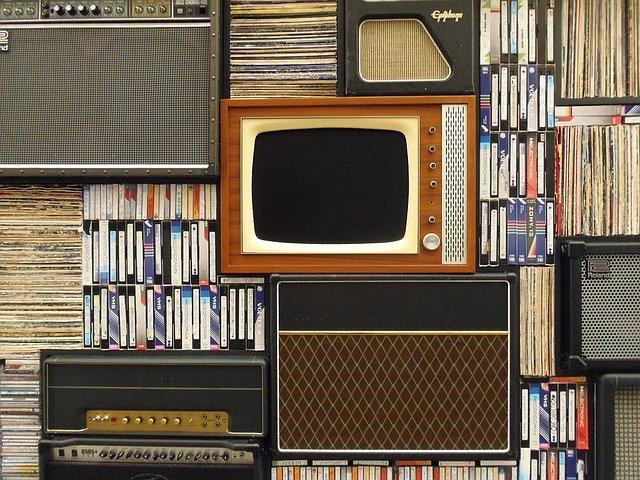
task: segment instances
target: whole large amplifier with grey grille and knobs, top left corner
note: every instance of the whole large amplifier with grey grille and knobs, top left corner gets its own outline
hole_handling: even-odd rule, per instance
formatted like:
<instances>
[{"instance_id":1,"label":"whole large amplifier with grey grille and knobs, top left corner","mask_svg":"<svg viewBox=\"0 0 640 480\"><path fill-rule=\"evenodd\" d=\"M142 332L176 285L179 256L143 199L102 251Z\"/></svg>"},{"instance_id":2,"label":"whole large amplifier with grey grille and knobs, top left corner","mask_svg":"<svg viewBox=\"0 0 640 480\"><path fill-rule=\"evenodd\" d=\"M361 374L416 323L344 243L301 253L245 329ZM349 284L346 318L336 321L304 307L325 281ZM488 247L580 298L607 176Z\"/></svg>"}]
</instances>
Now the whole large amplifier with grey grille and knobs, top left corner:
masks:
<instances>
[{"instance_id":1,"label":"whole large amplifier with grey grille and knobs, top left corner","mask_svg":"<svg viewBox=\"0 0 640 480\"><path fill-rule=\"evenodd\" d=\"M216 174L220 9L180 5L4 0L0 175Z\"/></svg>"}]
</instances>

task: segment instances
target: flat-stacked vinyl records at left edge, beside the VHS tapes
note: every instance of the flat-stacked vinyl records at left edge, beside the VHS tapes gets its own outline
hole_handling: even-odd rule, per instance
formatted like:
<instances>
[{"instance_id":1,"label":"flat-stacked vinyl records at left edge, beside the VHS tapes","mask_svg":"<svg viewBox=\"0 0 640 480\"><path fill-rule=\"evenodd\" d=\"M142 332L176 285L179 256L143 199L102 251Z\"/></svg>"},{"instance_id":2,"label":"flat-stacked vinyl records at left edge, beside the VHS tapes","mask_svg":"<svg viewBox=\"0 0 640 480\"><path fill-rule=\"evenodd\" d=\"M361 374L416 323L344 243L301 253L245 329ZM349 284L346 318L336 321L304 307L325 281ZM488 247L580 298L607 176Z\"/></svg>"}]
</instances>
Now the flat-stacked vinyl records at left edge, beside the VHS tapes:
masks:
<instances>
[{"instance_id":1,"label":"flat-stacked vinyl records at left edge, beside the VHS tapes","mask_svg":"<svg viewBox=\"0 0 640 480\"><path fill-rule=\"evenodd\" d=\"M0 351L82 347L82 189L0 186Z\"/></svg>"}]
</instances>

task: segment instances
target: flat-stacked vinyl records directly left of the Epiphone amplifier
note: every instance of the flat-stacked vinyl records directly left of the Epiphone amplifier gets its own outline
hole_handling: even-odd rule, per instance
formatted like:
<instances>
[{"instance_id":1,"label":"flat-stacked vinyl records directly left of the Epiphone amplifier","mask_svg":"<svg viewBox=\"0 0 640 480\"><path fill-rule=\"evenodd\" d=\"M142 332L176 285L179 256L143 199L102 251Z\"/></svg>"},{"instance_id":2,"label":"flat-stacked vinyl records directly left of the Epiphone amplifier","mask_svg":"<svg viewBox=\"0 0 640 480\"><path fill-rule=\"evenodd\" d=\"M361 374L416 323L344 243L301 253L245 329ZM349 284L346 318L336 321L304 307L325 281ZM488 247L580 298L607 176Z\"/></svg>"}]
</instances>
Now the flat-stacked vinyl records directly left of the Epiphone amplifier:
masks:
<instances>
[{"instance_id":1,"label":"flat-stacked vinyl records directly left of the Epiphone amplifier","mask_svg":"<svg viewBox=\"0 0 640 480\"><path fill-rule=\"evenodd\" d=\"M335 96L336 0L231 0L231 97Z\"/></svg>"}]
</instances>

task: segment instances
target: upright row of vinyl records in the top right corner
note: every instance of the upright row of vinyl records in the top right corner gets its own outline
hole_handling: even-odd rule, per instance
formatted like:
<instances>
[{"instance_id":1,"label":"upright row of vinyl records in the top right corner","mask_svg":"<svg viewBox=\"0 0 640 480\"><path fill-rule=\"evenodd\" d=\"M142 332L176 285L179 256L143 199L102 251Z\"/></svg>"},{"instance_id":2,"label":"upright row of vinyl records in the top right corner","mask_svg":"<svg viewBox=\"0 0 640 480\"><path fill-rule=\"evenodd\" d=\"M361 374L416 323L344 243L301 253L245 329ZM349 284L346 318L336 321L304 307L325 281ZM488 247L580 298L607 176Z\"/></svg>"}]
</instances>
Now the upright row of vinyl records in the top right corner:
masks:
<instances>
[{"instance_id":1,"label":"upright row of vinyl records in the top right corner","mask_svg":"<svg viewBox=\"0 0 640 480\"><path fill-rule=\"evenodd\" d=\"M638 0L562 2L562 96L640 95Z\"/></svg>"}]
</instances>

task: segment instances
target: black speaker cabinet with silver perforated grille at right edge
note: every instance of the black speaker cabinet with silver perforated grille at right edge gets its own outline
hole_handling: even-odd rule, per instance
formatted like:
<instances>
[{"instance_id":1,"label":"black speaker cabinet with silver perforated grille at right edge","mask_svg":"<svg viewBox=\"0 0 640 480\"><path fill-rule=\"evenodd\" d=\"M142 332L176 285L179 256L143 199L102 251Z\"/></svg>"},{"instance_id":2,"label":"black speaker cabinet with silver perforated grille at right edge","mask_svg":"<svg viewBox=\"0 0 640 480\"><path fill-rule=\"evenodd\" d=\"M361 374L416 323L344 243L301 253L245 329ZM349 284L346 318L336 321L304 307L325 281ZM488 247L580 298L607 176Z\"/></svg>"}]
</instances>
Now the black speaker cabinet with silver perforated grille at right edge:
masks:
<instances>
[{"instance_id":1,"label":"black speaker cabinet with silver perforated grille at right edge","mask_svg":"<svg viewBox=\"0 0 640 480\"><path fill-rule=\"evenodd\" d=\"M640 368L640 239L562 242L560 309L567 368Z\"/></svg>"}]
</instances>

